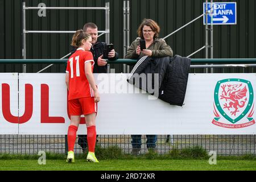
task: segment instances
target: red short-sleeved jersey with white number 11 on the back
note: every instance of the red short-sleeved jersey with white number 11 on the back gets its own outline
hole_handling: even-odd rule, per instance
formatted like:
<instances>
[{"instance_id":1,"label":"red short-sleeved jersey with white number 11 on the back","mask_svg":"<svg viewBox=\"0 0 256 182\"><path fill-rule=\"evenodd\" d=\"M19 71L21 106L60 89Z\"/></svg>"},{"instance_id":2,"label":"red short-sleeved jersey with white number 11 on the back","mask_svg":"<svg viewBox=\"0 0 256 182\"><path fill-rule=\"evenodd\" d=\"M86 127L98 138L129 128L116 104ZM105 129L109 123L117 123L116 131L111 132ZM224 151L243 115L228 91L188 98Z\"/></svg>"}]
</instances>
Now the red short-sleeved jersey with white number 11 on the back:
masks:
<instances>
[{"instance_id":1,"label":"red short-sleeved jersey with white number 11 on the back","mask_svg":"<svg viewBox=\"0 0 256 182\"><path fill-rule=\"evenodd\" d=\"M94 60L92 52L84 51L82 48L78 48L76 52L69 57L66 70L66 73L69 73L68 100L82 97L94 97L93 89L91 88L84 71L84 65L88 62L92 62L93 72Z\"/></svg>"}]
</instances>

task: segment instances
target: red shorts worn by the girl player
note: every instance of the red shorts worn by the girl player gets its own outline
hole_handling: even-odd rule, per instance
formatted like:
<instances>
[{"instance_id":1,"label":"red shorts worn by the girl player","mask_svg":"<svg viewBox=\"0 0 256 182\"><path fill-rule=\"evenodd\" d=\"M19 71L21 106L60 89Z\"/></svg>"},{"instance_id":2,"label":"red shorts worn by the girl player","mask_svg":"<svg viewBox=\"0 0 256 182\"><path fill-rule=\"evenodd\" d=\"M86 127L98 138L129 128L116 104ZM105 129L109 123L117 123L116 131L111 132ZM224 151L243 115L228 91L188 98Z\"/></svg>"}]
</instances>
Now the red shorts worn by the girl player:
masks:
<instances>
[{"instance_id":1,"label":"red shorts worn by the girl player","mask_svg":"<svg viewBox=\"0 0 256 182\"><path fill-rule=\"evenodd\" d=\"M70 115L88 115L97 113L97 103L94 102L94 97L82 97L68 101Z\"/></svg>"}]
</instances>

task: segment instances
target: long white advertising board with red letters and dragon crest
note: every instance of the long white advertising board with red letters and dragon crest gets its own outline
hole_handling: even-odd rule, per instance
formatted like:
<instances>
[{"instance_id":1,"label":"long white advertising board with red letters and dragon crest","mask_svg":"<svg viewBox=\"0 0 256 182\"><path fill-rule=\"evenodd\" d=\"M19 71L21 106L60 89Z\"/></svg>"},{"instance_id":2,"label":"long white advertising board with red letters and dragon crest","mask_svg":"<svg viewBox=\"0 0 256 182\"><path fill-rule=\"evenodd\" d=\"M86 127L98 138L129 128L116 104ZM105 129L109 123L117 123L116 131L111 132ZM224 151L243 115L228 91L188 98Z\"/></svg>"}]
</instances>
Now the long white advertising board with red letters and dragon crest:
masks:
<instances>
[{"instance_id":1,"label":"long white advertising board with red letters and dragon crest","mask_svg":"<svg viewBox=\"0 0 256 182\"><path fill-rule=\"evenodd\" d=\"M101 96L97 134L256 133L255 73L191 73L183 107L139 93L139 89L127 83L127 76L94 74ZM67 134L70 120L65 74L20 73L19 112L20 116L26 113L18 124L19 134ZM77 134L86 134L85 124L79 126Z\"/></svg>"}]
</instances>

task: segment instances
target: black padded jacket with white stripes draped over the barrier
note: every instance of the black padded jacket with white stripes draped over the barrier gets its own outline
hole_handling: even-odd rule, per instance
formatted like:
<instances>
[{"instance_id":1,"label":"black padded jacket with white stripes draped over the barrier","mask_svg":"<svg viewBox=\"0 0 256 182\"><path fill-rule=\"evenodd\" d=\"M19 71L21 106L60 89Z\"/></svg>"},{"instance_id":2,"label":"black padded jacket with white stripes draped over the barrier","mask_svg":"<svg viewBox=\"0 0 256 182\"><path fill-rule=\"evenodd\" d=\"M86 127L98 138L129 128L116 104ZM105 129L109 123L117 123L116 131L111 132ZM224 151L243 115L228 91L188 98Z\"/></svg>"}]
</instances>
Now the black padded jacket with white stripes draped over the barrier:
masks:
<instances>
[{"instance_id":1,"label":"black padded jacket with white stripes draped over the barrier","mask_svg":"<svg viewBox=\"0 0 256 182\"><path fill-rule=\"evenodd\" d=\"M150 94L154 94L154 85L158 84L158 98L171 105L183 106L190 64L191 59L179 55L174 57L144 56L137 61L127 81ZM142 73L146 75L151 73L152 77L146 76L145 81ZM158 74L158 77L155 74ZM155 80L154 76L158 79ZM138 79L139 77L141 79ZM136 83L136 80L139 82ZM154 84L155 81L158 83Z\"/></svg>"}]
</instances>

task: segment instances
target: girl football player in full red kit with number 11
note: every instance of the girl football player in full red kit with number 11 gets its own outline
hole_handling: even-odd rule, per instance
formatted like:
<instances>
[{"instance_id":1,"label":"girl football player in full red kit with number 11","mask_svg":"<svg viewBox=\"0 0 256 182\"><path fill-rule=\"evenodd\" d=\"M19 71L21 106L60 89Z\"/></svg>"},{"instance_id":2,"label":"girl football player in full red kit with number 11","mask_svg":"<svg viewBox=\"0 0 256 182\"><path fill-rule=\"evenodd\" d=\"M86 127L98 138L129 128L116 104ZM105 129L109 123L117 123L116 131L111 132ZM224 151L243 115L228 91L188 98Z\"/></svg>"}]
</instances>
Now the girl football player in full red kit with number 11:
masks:
<instances>
[{"instance_id":1,"label":"girl football player in full red kit with number 11","mask_svg":"<svg viewBox=\"0 0 256 182\"><path fill-rule=\"evenodd\" d=\"M84 114L87 127L87 140L89 152L87 161L98 162L94 155L96 143L95 119L97 102L100 94L93 77L93 55L90 52L92 38L82 30L77 30L72 38L72 46L76 52L68 59L66 71L66 84L69 90L68 107L71 115L71 124L68 127L68 157L67 162L75 162L74 145L76 132L80 123L80 116Z\"/></svg>"}]
</instances>

